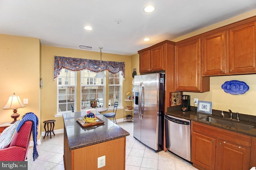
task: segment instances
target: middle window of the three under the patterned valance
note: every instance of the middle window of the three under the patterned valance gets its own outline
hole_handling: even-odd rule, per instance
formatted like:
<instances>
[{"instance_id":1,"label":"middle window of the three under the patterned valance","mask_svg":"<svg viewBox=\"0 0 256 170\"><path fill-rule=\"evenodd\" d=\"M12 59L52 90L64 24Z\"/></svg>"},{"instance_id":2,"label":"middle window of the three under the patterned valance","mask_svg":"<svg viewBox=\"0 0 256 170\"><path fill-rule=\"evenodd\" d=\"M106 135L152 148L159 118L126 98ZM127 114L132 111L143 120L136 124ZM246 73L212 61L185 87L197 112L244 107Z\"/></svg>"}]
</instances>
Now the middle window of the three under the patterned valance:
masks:
<instances>
[{"instance_id":1,"label":"middle window of the three under the patterned valance","mask_svg":"<svg viewBox=\"0 0 256 170\"><path fill-rule=\"evenodd\" d=\"M97 107L104 106L105 79L95 78L96 72L90 70L81 71L81 108L90 108L90 101L97 102Z\"/></svg>"}]
</instances>

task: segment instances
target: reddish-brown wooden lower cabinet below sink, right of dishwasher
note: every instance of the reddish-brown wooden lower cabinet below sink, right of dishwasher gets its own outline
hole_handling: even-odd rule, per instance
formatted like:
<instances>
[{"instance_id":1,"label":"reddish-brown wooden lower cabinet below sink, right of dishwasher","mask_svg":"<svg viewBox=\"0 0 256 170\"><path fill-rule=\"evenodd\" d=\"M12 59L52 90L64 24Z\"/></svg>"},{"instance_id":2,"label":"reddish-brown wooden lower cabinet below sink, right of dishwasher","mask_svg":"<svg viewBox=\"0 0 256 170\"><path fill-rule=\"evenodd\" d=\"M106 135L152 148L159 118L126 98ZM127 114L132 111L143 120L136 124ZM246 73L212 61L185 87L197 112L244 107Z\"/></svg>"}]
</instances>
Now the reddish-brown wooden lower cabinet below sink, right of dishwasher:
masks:
<instances>
[{"instance_id":1,"label":"reddish-brown wooden lower cabinet below sink, right of dishwasher","mask_svg":"<svg viewBox=\"0 0 256 170\"><path fill-rule=\"evenodd\" d=\"M249 170L252 137L192 122L191 162L200 170Z\"/></svg>"}]
</instances>

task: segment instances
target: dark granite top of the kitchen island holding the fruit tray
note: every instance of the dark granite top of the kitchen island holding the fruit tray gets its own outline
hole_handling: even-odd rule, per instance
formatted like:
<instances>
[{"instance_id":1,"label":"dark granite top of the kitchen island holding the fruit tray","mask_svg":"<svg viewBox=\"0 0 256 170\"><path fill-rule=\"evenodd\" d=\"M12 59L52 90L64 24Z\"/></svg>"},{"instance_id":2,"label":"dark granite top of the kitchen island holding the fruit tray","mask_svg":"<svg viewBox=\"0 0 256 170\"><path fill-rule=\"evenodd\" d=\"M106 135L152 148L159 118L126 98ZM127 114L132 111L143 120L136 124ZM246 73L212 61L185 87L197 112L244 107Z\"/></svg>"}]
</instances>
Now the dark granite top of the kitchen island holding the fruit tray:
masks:
<instances>
[{"instance_id":1,"label":"dark granite top of the kitchen island holding the fruit tray","mask_svg":"<svg viewBox=\"0 0 256 170\"><path fill-rule=\"evenodd\" d=\"M91 127L82 127L77 118L84 117L84 111L63 113L64 128L66 130L70 150L111 141L130 135L127 131L104 117L100 113L96 116L102 119L104 124Z\"/></svg>"}]
</instances>

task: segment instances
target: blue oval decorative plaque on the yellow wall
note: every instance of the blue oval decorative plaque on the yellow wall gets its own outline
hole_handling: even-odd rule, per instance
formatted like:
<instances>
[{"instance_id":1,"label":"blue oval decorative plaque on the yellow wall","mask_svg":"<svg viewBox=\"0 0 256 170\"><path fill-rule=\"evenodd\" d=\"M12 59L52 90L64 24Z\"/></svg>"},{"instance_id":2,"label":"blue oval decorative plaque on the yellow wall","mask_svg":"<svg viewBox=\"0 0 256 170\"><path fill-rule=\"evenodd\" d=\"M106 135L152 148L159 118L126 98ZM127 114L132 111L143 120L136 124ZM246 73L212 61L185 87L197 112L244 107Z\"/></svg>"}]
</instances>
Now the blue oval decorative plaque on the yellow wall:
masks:
<instances>
[{"instance_id":1,"label":"blue oval decorative plaque on the yellow wall","mask_svg":"<svg viewBox=\"0 0 256 170\"><path fill-rule=\"evenodd\" d=\"M249 86L245 82L238 80L224 82L221 88L224 90L224 92L229 94L244 94L249 90Z\"/></svg>"}]
</instances>

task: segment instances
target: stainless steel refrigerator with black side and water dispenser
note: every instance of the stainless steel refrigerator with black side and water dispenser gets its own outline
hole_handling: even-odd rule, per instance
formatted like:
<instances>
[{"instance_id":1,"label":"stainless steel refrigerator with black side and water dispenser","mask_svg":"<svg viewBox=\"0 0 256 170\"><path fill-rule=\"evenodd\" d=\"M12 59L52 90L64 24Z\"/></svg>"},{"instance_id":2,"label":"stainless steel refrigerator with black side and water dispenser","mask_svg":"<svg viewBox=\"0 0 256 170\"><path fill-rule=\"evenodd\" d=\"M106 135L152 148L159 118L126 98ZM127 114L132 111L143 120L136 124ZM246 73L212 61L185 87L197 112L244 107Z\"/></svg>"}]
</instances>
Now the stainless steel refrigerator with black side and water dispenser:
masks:
<instances>
[{"instance_id":1,"label":"stainless steel refrigerator with black side and water dispenser","mask_svg":"<svg viewBox=\"0 0 256 170\"><path fill-rule=\"evenodd\" d=\"M133 136L156 152L164 147L164 76L134 76Z\"/></svg>"}]
</instances>

